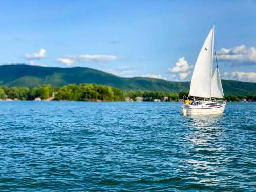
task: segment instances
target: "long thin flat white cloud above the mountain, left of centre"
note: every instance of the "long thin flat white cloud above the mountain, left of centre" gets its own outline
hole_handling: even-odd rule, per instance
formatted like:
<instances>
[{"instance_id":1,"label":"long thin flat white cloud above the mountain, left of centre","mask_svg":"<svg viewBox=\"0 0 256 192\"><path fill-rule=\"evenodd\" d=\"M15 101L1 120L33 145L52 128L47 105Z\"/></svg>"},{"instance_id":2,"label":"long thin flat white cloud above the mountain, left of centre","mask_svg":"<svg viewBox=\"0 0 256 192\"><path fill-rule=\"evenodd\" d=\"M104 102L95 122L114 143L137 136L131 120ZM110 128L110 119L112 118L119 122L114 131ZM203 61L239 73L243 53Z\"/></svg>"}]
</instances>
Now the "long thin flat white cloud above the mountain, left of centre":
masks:
<instances>
[{"instance_id":1,"label":"long thin flat white cloud above the mountain, left of centre","mask_svg":"<svg viewBox=\"0 0 256 192\"><path fill-rule=\"evenodd\" d=\"M62 63L64 65L73 65L76 62L107 62L107 61L114 61L120 59L117 56L114 55L89 55L89 54L83 54L78 56L62 56L61 58L55 59L56 62Z\"/></svg>"}]
</instances>

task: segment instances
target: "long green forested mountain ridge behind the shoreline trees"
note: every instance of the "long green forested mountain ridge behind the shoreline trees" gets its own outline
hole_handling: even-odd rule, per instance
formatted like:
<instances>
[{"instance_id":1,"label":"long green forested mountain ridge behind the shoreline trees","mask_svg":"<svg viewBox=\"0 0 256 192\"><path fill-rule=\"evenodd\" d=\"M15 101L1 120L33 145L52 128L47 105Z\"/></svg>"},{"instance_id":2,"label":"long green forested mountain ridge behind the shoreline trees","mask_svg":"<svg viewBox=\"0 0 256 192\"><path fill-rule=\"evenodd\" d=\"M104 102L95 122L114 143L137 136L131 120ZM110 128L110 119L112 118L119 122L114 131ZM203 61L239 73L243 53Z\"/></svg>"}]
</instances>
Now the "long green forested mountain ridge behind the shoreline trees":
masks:
<instances>
[{"instance_id":1,"label":"long green forested mountain ridge behind the shoreline trees","mask_svg":"<svg viewBox=\"0 0 256 192\"><path fill-rule=\"evenodd\" d=\"M222 80L225 94L247 95L256 93L256 83ZM188 91L190 82L172 82L162 79L133 77L124 78L103 71L86 68L58 68L25 64L0 66L0 85L35 87L42 84L97 83L122 90Z\"/></svg>"}]
</instances>

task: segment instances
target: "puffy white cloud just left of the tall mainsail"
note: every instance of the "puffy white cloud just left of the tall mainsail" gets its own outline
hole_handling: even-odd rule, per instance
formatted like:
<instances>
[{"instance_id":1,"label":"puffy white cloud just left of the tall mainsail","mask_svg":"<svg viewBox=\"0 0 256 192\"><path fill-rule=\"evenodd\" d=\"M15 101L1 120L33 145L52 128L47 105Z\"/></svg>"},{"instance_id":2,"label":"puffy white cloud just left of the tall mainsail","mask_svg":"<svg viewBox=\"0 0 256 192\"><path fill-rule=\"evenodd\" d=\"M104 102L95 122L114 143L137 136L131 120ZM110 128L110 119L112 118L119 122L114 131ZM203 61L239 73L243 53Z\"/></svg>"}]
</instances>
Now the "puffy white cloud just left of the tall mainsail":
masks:
<instances>
[{"instance_id":1,"label":"puffy white cloud just left of the tall mainsail","mask_svg":"<svg viewBox=\"0 0 256 192\"><path fill-rule=\"evenodd\" d=\"M193 66L189 66L184 57L179 58L173 68L169 68L168 71L172 73L170 79L178 81L184 80L191 73Z\"/></svg>"}]
</instances>

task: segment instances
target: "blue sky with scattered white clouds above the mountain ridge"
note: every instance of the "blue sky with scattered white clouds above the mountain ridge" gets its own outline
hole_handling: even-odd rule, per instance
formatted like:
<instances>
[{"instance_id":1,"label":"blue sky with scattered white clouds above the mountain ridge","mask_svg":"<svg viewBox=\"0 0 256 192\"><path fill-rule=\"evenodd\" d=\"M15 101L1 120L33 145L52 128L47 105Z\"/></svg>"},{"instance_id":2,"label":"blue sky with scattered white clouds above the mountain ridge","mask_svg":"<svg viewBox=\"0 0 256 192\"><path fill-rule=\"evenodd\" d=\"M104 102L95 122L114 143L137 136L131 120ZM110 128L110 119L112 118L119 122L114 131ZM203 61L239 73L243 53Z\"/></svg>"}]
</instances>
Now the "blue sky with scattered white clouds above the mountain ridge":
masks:
<instances>
[{"instance_id":1,"label":"blue sky with scattered white clouds above the mountain ridge","mask_svg":"<svg viewBox=\"0 0 256 192\"><path fill-rule=\"evenodd\" d=\"M215 25L222 79L256 82L256 1L3 1L0 63L190 81Z\"/></svg>"}]
</instances>

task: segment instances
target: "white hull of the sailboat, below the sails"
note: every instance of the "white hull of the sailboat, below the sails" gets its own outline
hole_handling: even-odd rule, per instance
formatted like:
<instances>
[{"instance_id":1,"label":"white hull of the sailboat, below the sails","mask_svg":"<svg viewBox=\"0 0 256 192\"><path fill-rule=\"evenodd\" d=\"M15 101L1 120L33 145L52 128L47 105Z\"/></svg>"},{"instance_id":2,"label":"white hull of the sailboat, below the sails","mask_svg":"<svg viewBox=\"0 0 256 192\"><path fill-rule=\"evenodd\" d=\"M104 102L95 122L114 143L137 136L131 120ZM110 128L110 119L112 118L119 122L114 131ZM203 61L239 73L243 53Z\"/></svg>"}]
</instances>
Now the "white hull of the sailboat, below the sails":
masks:
<instances>
[{"instance_id":1,"label":"white hull of the sailboat, below the sails","mask_svg":"<svg viewBox=\"0 0 256 192\"><path fill-rule=\"evenodd\" d=\"M190 105L183 105L181 107L181 114L186 116L193 116L193 115L211 115L211 114L220 114L223 113L225 110L226 104L221 106L216 106L212 108L208 107L191 107Z\"/></svg>"}]
</instances>

